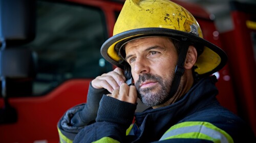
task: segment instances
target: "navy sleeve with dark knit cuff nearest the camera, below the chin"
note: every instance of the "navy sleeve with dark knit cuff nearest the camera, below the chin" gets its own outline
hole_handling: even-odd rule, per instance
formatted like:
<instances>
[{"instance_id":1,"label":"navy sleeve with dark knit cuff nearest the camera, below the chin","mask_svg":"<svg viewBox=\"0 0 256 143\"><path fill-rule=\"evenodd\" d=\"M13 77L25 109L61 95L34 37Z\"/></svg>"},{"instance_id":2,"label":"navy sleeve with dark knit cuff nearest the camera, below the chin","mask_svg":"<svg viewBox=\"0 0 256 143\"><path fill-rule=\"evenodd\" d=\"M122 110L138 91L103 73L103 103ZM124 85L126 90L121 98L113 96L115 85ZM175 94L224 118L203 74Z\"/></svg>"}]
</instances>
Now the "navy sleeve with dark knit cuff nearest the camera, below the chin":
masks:
<instances>
[{"instance_id":1,"label":"navy sleeve with dark knit cuff nearest the camera, below the chin","mask_svg":"<svg viewBox=\"0 0 256 143\"><path fill-rule=\"evenodd\" d=\"M136 106L104 95L96 122L84 127L74 142L126 142L126 129L133 122Z\"/></svg>"}]
</instances>

